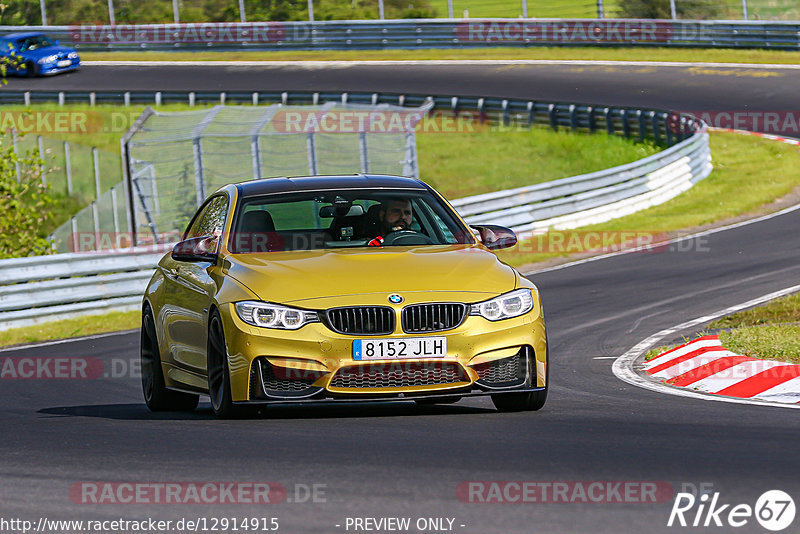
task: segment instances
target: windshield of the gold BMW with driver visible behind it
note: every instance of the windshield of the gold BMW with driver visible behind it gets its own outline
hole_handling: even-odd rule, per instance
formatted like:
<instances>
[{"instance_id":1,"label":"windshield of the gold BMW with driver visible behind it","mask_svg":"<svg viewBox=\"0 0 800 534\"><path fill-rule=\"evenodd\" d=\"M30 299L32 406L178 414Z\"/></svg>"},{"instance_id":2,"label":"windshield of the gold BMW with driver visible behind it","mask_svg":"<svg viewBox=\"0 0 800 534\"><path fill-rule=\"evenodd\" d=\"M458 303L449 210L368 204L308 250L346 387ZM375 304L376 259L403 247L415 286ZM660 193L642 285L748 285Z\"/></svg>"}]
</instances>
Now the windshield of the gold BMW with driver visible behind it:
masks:
<instances>
[{"instance_id":1,"label":"windshield of the gold BMW with driver visible behind it","mask_svg":"<svg viewBox=\"0 0 800 534\"><path fill-rule=\"evenodd\" d=\"M241 199L228 248L247 253L474 242L430 192L380 189Z\"/></svg>"}]
</instances>

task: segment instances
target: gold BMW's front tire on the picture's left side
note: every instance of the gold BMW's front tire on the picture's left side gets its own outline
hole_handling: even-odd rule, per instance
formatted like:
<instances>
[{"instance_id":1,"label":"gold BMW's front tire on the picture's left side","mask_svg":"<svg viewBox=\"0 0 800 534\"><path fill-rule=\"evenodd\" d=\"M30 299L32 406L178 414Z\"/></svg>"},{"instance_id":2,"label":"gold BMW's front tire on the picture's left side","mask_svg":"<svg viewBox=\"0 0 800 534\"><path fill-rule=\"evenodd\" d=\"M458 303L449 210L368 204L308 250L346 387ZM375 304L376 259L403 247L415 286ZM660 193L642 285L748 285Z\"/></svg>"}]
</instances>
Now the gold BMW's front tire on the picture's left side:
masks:
<instances>
[{"instance_id":1,"label":"gold BMW's front tire on the picture's left side","mask_svg":"<svg viewBox=\"0 0 800 534\"><path fill-rule=\"evenodd\" d=\"M235 419L244 415L241 407L233 404L231 374L228 368L228 349L222 318L214 310L208 321L208 396L211 409L220 419Z\"/></svg>"}]
</instances>

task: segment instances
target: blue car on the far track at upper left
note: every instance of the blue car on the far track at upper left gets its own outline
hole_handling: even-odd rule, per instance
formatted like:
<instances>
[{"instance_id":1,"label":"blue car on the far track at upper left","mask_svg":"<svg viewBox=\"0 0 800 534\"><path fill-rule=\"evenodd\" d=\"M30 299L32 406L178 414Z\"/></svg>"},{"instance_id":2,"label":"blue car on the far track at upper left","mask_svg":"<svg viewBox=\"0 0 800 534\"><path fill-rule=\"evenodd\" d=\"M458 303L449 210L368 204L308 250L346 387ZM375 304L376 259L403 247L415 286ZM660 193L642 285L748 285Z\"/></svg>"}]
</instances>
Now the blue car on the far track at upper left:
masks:
<instances>
[{"instance_id":1,"label":"blue car on the far track at upper left","mask_svg":"<svg viewBox=\"0 0 800 534\"><path fill-rule=\"evenodd\" d=\"M61 46L39 32L9 33L0 37L0 54L9 74L44 76L78 70L81 58L74 48Z\"/></svg>"}]
</instances>

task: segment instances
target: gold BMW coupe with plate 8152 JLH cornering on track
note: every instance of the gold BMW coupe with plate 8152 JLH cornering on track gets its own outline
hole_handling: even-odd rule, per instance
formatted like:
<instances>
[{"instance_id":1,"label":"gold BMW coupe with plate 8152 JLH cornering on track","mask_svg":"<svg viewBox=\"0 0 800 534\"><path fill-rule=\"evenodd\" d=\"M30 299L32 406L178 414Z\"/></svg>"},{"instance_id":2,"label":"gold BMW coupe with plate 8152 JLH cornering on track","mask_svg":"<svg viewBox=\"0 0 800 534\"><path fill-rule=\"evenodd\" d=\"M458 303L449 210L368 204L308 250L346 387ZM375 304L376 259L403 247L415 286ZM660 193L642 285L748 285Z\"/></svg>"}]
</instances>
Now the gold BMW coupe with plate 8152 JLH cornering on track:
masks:
<instances>
[{"instance_id":1,"label":"gold BMW coupe with plate 8152 JLH cornering on track","mask_svg":"<svg viewBox=\"0 0 800 534\"><path fill-rule=\"evenodd\" d=\"M547 398L539 292L425 183L383 175L221 188L142 304L147 406L233 417L253 404Z\"/></svg>"}]
</instances>

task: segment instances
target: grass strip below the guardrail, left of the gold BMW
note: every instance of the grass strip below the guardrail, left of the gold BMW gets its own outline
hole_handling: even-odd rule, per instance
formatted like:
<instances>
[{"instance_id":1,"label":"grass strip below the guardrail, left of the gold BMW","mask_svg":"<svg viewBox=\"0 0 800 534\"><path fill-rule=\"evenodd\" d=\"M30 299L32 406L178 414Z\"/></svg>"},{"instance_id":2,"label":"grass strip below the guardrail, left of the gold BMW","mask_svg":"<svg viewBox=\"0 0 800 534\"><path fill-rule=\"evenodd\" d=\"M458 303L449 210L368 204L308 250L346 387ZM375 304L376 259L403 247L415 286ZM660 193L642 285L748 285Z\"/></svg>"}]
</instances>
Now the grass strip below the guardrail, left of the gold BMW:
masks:
<instances>
[{"instance_id":1,"label":"grass strip below the guardrail, left of the gold BMW","mask_svg":"<svg viewBox=\"0 0 800 534\"><path fill-rule=\"evenodd\" d=\"M138 328L141 312L108 312L0 331L0 346L118 332Z\"/></svg>"}]
</instances>

